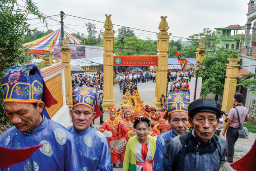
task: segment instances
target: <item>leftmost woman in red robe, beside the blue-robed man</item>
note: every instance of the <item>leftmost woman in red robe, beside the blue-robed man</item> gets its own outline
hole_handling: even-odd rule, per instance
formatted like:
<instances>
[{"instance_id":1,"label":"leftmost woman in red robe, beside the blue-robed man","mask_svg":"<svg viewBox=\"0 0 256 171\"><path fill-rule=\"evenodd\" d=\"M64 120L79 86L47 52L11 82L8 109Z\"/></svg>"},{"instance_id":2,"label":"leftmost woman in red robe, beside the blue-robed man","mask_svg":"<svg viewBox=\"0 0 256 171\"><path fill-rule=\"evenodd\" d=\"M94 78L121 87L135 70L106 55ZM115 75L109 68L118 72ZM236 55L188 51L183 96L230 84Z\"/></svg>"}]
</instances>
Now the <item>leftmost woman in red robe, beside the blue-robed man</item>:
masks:
<instances>
[{"instance_id":1,"label":"leftmost woman in red robe, beside the blue-robed man","mask_svg":"<svg viewBox=\"0 0 256 171\"><path fill-rule=\"evenodd\" d=\"M120 164L120 154L115 153L111 147L110 142L116 141L116 139L119 139L118 137L118 130L119 130L119 120L116 119L116 108L113 106L110 109L109 113L110 119L106 120L101 127L99 127L100 132L104 132L105 130L112 132L112 137L107 137L108 145L110 148L111 158L112 162L115 163L116 167Z\"/></svg>"}]
</instances>

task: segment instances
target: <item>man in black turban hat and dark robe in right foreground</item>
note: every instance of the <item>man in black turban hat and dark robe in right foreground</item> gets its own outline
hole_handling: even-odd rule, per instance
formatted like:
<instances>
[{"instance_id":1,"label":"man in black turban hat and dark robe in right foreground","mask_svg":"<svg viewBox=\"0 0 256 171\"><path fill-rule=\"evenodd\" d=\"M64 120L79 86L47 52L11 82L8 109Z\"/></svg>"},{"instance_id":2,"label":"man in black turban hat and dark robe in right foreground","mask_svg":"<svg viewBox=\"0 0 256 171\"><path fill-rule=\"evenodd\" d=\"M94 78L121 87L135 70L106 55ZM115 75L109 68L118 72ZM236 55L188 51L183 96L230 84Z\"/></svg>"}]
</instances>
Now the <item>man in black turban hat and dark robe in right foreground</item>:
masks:
<instances>
[{"instance_id":1,"label":"man in black turban hat and dark robe in right foreground","mask_svg":"<svg viewBox=\"0 0 256 171\"><path fill-rule=\"evenodd\" d=\"M169 139L163 151L164 171L219 171L227 144L215 135L221 108L211 99L198 99L188 106L189 132Z\"/></svg>"}]
</instances>

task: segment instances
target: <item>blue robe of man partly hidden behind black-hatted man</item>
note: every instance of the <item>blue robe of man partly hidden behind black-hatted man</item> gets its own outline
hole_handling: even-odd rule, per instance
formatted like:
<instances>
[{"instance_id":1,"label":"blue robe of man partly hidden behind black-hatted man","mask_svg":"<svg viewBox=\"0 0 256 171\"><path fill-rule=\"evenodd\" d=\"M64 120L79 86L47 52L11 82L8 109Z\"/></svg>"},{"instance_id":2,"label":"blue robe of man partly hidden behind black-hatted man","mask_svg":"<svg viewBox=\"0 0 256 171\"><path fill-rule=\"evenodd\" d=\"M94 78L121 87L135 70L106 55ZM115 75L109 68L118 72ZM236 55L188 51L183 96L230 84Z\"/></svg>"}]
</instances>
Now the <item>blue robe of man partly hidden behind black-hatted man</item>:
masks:
<instances>
[{"instance_id":1,"label":"blue robe of man partly hidden behind black-hatted man","mask_svg":"<svg viewBox=\"0 0 256 171\"><path fill-rule=\"evenodd\" d=\"M165 148L165 144L167 140L172 139L174 137L175 137L175 134L173 133L172 129L168 132L158 135L156 153L153 159L154 171L163 171L163 167L162 167L163 150Z\"/></svg>"}]
</instances>

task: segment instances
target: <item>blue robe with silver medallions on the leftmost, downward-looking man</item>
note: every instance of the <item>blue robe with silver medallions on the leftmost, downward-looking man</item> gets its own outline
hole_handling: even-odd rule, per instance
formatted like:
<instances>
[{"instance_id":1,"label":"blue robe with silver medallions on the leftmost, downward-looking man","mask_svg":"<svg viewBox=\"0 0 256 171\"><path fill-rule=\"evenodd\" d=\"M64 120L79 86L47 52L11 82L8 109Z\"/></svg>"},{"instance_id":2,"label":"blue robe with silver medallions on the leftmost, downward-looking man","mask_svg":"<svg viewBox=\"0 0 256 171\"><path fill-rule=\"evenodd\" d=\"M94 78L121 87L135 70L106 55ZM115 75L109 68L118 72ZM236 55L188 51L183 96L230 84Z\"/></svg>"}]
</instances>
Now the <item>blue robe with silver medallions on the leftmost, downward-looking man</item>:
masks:
<instances>
[{"instance_id":1,"label":"blue robe with silver medallions on the leftmost, downward-looking man","mask_svg":"<svg viewBox=\"0 0 256 171\"><path fill-rule=\"evenodd\" d=\"M20 132L13 126L0 136L0 144L7 148L44 143L27 160L2 171L80 171L81 156L74 136L63 126L42 116L41 125L32 131Z\"/></svg>"}]
</instances>

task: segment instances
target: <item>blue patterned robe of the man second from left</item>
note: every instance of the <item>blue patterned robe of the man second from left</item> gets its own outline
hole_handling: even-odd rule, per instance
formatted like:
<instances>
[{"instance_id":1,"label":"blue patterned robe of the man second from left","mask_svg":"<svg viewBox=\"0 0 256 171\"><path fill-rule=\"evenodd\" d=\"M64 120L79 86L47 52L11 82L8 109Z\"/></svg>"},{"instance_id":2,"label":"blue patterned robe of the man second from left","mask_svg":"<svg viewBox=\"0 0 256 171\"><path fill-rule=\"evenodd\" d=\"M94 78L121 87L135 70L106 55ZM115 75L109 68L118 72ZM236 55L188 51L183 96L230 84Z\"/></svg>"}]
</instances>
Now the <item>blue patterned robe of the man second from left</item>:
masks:
<instances>
[{"instance_id":1,"label":"blue patterned robe of the man second from left","mask_svg":"<svg viewBox=\"0 0 256 171\"><path fill-rule=\"evenodd\" d=\"M67 128L74 135L82 157L83 171L112 171L112 159L107 137L97 129L89 126L88 129L77 132L74 126Z\"/></svg>"}]
</instances>

